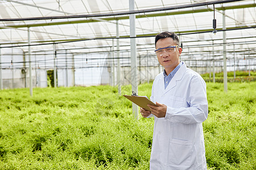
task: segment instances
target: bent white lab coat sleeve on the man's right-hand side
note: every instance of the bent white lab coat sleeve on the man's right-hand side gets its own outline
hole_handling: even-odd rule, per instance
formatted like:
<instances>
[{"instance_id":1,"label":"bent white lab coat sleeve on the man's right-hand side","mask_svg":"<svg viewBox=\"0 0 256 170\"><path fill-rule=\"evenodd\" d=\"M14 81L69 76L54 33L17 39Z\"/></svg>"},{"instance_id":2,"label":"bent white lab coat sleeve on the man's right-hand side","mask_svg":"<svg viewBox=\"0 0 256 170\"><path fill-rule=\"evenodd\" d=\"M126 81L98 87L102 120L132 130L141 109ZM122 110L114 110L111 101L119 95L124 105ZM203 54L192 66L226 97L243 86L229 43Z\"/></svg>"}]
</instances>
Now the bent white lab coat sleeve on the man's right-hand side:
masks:
<instances>
[{"instance_id":1,"label":"bent white lab coat sleeve on the man's right-hand side","mask_svg":"<svg viewBox=\"0 0 256 170\"><path fill-rule=\"evenodd\" d=\"M199 75L193 76L189 83L186 101L189 107L173 108L167 106L165 119L183 124L196 124L208 117L206 83Z\"/></svg>"}]
</instances>

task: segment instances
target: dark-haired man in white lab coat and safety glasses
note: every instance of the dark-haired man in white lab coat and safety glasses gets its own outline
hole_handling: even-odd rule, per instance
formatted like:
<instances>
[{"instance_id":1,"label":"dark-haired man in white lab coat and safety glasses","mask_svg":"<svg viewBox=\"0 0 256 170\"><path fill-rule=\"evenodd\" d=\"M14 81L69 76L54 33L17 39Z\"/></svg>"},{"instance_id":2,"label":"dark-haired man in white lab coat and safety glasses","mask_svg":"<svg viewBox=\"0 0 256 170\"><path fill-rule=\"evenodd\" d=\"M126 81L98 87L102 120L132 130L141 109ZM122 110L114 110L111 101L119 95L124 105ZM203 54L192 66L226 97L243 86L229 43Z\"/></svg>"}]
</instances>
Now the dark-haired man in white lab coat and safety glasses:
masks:
<instances>
[{"instance_id":1,"label":"dark-haired man in white lab coat and safety glasses","mask_svg":"<svg viewBox=\"0 0 256 170\"><path fill-rule=\"evenodd\" d=\"M180 62L182 49L175 33L156 35L155 48L164 67L150 97L158 107L141 108L143 117L155 119L150 169L207 169L202 126L208 116L206 84Z\"/></svg>"}]
</instances>

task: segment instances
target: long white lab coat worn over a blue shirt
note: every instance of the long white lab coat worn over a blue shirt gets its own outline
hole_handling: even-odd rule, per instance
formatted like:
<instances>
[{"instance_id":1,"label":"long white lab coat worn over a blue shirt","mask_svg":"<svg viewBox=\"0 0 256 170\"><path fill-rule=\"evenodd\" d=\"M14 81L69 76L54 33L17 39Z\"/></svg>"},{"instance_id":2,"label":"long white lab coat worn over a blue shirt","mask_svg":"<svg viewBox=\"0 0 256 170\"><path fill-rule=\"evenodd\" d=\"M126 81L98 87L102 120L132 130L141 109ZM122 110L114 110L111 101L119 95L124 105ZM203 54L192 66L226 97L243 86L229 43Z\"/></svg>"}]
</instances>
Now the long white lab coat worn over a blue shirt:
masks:
<instances>
[{"instance_id":1,"label":"long white lab coat worn over a blue shirt","mask_svg":"<svg viewBox=\"0 0 256 170\"><path fill-rule=\"evenodd\" d=\"M203 78L183 63L166 89L163 73L156 76L150 99L167 105L166 117L154 116L150 169L207 169L202 122L208 117L208 102Z\"/></svg>"}]
</instances>

